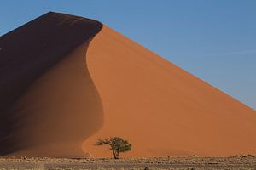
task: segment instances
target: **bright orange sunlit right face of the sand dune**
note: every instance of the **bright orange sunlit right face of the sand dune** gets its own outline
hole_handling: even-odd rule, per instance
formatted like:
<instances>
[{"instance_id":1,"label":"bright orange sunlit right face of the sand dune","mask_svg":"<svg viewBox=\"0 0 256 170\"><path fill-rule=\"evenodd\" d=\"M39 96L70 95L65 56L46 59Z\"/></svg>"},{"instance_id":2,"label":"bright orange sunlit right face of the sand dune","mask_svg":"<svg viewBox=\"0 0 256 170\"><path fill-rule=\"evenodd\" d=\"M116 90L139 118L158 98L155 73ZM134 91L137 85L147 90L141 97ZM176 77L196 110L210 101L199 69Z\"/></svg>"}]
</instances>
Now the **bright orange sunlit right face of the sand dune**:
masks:
<instances>
[{"instance_id":1,"label":"bright orange sunlit right face of the sand dune","mask_svg":"<svg viewBox=\"0 0 256 170\"><path fill-rule=\"evenodd\" d=\"M103 26L87 65L101 96L104 126L84 151L110 156L96 139L123 136L125 156L256 153L256 113L136 42Z\"/></svg>"}]
</instances>

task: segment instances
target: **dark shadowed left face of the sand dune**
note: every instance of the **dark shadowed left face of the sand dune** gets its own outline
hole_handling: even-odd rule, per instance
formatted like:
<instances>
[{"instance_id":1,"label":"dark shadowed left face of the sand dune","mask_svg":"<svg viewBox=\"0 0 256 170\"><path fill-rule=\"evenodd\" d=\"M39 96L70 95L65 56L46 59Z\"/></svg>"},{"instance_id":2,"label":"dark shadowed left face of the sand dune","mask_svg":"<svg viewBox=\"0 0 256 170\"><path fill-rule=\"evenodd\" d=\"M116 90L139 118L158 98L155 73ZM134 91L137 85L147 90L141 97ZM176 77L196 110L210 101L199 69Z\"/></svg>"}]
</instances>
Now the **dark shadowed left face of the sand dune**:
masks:
<instances>
[{"instance_id":1,"label":"dark shadowed left face of the sand dune","mask_svg":"<svg viewBox=\"0 0 256 170\"><path fill-rule=\"evenodd\" d=\"M0 37L0 156L81 156L102 126L87 70L95 20L44 14Z\"/></svg>"}]
</instances>

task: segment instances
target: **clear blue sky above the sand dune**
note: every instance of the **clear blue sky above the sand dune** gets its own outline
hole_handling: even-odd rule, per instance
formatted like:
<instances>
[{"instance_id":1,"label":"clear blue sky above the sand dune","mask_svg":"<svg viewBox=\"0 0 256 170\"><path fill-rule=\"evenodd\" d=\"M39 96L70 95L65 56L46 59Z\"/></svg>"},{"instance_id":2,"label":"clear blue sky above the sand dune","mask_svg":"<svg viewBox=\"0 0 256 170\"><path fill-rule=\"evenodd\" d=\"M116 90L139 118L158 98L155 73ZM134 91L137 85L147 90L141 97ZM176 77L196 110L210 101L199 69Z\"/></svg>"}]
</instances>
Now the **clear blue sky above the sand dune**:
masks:
<instances>
[{"instance_id":1,"label":"clear blue sky above the sand dune","mask_svg":"<svg viewBox=\"0 0 256 170\"><path fill-rule=\"evenodd\" d=\"M256 109L255 0L1 0L0 35L48 11L100 20Z\"/></svg>"}]
</instances>

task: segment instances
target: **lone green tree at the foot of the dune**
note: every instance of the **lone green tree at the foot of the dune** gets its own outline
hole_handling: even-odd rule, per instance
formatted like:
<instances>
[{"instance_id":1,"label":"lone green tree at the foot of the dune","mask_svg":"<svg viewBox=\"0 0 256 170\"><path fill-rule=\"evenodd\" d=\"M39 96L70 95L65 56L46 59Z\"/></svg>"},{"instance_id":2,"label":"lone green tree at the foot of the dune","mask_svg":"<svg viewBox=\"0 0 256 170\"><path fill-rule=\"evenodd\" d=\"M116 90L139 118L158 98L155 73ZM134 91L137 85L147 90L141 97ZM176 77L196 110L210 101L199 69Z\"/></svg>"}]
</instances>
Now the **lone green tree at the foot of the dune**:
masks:
<instances>
[{"instance_id":1,"label":"lone green tree at the foot of the dune","mask_svg":"<svg viewBox=\"0 0 256 170\"><path fill-rule=\"evenodd\" d=\"M119 159L119 152L126 152L131 150L131 144L120 137L110 137L106 139L98 139L96 145L108 144L110 150L113 152L114 159Z\"/></svg>"}]
</instances>

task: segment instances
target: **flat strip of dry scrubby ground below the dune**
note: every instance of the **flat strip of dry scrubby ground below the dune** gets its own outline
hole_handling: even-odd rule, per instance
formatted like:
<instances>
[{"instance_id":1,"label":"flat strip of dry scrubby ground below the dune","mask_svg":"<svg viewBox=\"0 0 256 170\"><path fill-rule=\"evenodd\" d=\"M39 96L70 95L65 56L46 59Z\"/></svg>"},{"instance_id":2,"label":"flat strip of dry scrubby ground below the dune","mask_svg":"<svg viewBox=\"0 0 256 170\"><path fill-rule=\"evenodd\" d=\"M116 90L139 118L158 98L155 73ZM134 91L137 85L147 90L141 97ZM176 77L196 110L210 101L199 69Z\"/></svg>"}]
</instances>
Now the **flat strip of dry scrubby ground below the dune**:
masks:
<instances>
[{"instance_id":1,"label":"flat strip of dry scrubby ground below the dune","mask_svg":"<svg viewBox=\"0 0 256 170\"><path fill-rule=\"evenodd\" d=\"M232 157L158 157L140 159L107 158L0 158L3 169L253 169L256 156Z\"/></svg>"}]
</instances>

